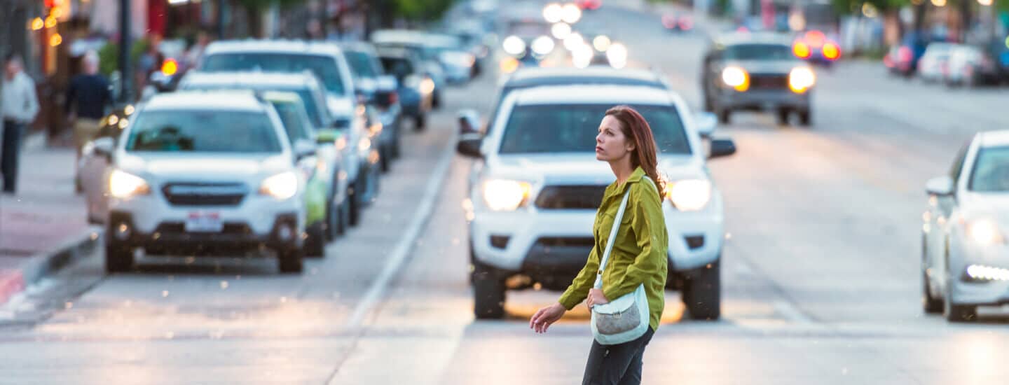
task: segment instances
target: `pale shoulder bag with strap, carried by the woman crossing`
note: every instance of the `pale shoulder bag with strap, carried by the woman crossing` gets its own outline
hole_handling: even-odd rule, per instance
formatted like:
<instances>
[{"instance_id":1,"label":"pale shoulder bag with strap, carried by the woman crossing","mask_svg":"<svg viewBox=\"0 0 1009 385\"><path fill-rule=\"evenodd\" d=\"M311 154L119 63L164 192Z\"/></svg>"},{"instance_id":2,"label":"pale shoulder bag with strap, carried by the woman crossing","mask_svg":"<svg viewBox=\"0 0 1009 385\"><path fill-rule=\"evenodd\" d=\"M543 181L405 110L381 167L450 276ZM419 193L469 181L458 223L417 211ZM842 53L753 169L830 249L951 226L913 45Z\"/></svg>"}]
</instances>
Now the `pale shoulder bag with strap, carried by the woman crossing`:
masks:
<instances>
[{"instance_id":1,"label":"pale shoulder bag with strap, carried by the woman crossing","mask_svg":"<svg viewBox=\"0 0 1009 385\"><path fill-rule=\"evenodd\" d=\"M624 219L624 210L627 208L630 195L631 188L628 188L624 194L624 201L621 202L621 208L616 211L616 218L613 219L613 226L609 230L609 241L606 242L606 250L602 253L599 271L595 275L595 288L602 288L602 270L609 261L609 254L613 249L613 241ZM599 345L631 342L648 332L648 296L645 295L645 285L640 284L634 291L620 298L592 306L592 337Z\"/></svg>"}]
</instances>

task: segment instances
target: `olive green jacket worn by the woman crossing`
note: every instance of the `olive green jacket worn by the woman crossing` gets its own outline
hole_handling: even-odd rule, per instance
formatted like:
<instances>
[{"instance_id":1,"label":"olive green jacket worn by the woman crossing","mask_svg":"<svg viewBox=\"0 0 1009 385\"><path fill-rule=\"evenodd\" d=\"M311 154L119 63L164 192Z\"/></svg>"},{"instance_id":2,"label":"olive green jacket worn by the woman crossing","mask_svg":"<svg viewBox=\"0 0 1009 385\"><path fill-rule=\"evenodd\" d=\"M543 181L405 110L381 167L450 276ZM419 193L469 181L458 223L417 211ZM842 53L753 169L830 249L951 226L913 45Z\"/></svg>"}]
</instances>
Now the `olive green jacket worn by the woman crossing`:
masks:
<instances>
[{"instance_id":1,"label":"olive green jacket worn by the woman crossing","mask_svg":"<svg viewBox=\"0 0 1009 385\"><path fill-rule=\"evenodd\" d=\"M588 254L585 267L574 278L559 302L570 310L588 296L588 290L595 283L599 270L599 260L609 242L609 229L616 218L624 192L630 188L628 206L624 211L616 240L609 254L608 266L602 274L602 294L613 300L633 292L638 285L645 284L648 296L649 326L658 330L659 319L665 306L666 251L669 236L662 214L663 200L658 189L648 179L645 171L638 167L623 184L613 181L602 196L602 204L595 214L592 235L595 245Z\"/></svg>"}]
</instances>

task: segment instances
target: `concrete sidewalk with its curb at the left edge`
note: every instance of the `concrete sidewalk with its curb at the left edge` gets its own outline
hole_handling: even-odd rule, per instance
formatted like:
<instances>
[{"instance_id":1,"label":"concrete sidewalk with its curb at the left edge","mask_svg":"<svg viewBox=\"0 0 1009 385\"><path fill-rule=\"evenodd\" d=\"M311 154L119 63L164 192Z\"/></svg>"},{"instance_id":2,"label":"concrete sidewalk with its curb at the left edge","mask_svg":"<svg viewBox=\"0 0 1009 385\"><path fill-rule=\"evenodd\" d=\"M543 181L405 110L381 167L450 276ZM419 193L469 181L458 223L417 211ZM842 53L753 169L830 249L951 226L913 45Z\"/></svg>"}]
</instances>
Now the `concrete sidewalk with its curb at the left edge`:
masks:
<instances>
[{"instance_id":1,"label":"concrete sidewalk with its curb at the left edge","mask_svg":"<svg viewBox=\"0 0 1009 385\"><path fill-rule=\"evenodd\" d=\"M47 147L43 135L25 138L17 194L0 195L0 303L98 243L99 228L74 192L74 158L73 148Z\"/></svg>"}]
</instances>

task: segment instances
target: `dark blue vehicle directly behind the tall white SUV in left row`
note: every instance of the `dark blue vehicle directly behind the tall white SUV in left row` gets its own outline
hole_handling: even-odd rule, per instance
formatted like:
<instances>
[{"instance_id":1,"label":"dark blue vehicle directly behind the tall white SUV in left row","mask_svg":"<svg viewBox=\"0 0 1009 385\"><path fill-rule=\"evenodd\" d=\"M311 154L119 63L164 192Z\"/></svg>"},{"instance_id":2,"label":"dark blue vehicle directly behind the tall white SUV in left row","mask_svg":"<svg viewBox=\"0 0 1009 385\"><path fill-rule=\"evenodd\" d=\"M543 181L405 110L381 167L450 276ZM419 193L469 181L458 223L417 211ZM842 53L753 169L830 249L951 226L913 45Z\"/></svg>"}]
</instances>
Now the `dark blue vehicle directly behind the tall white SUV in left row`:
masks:
<instances>
[{"instance_id":1,"label":"dark blue vehicle directly behind the tall white SUV in left row","mask_svg":"<svg viewBox=\"0 0 1009 385\"><path fill-rule=\"evenodd\" d=\"M367 43L341 43L343 54L350 63L357 83L356 89L374 106L382 125L379 152L382 170L388 170L389 160L400 154L400 118L403 107L397 93L399 83L395 76L386 75L374 47ZM367 123L371 127L372 123Z\"/></svg>"}]
</instances>

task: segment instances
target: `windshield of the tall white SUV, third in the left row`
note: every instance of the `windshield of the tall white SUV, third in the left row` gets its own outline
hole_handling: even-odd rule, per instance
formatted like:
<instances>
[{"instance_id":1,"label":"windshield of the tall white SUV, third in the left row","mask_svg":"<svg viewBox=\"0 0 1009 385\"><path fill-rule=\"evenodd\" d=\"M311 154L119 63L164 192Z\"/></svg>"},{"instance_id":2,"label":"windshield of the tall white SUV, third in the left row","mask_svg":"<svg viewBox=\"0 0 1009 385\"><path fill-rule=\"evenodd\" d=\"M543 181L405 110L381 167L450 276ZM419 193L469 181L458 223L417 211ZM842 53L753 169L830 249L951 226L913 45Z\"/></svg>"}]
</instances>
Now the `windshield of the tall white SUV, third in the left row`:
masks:
<instances>
[{"instance_id":1,"label":"windshield of the tall white SUV, third in the left row","mask_svg":"<svg viewBox=\"0 0 1009 385\"><path fill-rule=\"evenodd\" d=\"M204 59L201 71L234 72L262 71L269 73L300 73L312 71L326 85L326 90L337 95L346 94L339 65L333 57L319 54L297 53L215 53Z\"/></svg>"}]
</instances>

